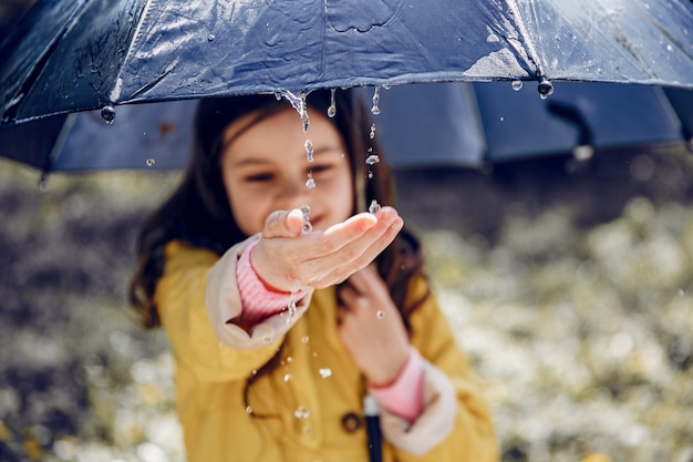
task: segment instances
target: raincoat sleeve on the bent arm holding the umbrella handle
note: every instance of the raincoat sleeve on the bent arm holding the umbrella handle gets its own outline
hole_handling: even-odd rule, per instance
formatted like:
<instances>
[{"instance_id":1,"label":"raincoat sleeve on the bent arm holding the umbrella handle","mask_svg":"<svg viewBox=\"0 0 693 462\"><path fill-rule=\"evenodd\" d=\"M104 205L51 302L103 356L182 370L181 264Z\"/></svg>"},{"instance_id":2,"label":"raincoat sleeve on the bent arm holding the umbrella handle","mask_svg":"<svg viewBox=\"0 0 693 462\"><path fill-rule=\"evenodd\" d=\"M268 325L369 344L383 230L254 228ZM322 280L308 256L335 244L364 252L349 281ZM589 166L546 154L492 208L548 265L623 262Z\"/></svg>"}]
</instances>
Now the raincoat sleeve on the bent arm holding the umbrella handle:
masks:
<instances>
[{"instance_id":1,"label":"raincoat sleeve on the bent arm holding the umbrella handle","mask_svg":"<svg viewBox=\"0 0 693 462\"><path fill-rule=\"evenodd\" d=\"M414 284L412 297L421 297L426 290L427 283L422 278ZM424 409L411 424L381 411L381 428L393 446L394 459L497 461L498 446L480 383L433 296L417 308L411 322L412 345L424 358Z\"/></svg>"}]
</instances>

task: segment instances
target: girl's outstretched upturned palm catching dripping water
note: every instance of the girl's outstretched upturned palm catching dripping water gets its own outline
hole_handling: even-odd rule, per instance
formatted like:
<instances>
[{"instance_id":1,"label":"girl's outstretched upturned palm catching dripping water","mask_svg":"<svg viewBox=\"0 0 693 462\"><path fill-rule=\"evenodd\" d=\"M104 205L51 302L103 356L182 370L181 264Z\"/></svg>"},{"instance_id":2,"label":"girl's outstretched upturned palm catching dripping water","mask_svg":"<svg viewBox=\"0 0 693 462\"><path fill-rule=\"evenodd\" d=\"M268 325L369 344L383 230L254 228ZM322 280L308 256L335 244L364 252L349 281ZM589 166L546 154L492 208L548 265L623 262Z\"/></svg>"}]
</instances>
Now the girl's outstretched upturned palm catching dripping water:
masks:
<instances>
[{"instance_id":1,"label":"girl's outstretched upturned palm catching dripping water","mask_svg":"<svg viewBox=\"0 0 693 462\"><path fill-rule=\"evenodd\" d=\"M402 229L392 207L361 213L324 232L302 232L300 209L278 211L265 222L251 254L258 276L281 291L323 288L342 283L369 265Z\"/></svg>"}]
</instances>

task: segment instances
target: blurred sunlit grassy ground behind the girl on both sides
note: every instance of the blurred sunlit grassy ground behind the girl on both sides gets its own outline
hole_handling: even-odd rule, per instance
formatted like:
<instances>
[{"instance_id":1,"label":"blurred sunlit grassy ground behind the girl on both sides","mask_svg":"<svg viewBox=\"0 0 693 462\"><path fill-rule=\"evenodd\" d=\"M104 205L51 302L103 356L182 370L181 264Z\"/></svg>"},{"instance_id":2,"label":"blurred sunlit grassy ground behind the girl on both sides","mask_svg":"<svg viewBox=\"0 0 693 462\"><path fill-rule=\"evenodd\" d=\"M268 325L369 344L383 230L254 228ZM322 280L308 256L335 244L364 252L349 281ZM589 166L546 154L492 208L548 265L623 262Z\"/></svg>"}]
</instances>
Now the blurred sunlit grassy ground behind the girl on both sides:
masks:
<instances>
[{"instance_id":1,"label":"blurred sunlit grassy ground behind the girl on both sides","mask_svg":"<svg viewBox=\"0 0 693 462\"><path fill-rule=\"evenodd\" d=\"M692 175L683 152L397 173L504 461L693 460ZM125 299L177 178L40 191L0 161L0 460L184 460L166 338Z\"/></svg>"}]
</instances>

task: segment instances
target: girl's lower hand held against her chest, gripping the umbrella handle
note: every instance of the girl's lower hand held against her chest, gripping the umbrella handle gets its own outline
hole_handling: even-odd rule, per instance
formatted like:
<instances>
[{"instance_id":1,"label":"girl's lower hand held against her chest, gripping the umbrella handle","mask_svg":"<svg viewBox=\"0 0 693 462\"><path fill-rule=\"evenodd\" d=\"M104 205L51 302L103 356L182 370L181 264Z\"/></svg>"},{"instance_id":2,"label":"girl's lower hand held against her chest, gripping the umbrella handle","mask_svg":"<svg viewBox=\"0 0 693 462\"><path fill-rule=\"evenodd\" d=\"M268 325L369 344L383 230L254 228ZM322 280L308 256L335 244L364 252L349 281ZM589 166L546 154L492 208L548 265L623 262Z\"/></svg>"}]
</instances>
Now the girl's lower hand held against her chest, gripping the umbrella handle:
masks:
<instances>
[{"instance_id":1,"label":"girl's lower hand held against her chest, gripping the umbrella handle","mask_svg":"<svg viewBox=\"0 0 693 462\"><path fill-rule=\"evenodd\" d=\"M351 358L375 387L391 384L408 358L408 336L397 307L374 266L340 288L339 333Z\"/></svg>"}]
</instances>

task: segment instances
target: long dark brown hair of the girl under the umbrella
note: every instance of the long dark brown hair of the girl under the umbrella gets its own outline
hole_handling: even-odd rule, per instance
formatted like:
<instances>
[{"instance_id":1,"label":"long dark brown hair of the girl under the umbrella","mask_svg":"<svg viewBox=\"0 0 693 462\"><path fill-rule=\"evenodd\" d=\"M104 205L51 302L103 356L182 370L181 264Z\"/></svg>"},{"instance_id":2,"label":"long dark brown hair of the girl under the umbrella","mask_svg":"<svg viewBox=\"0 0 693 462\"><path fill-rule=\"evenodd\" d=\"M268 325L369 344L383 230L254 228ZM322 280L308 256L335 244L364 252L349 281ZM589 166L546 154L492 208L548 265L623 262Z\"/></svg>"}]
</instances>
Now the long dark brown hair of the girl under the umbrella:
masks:
<instances>
[{"instance_id":1,"label":"long dark brown hair of the girl under the umbrella","mask_svg":"<svg viewBox=\"0 0 693 462\"><path fill-rule=\"evenodd\" d=\"M353 172L354 211L376 199L393 205L394 186L384 154L369 136L372 124L361 94L354 90L334 93L337 114L331 119L342 136ZM329 91L307 96L309 115L324 111L331 103ZM145 222L137 240L138 265L130 285L130 301L146 328L161 325L154 292L164 271L164 248L172 240L208 248L219 255L247 236L234 220L219 166L224 129L238 117L255 113L246 129L259 120L290 107L273 95L246 95L201 100L195 117L195 143L183 181L173 195ZM297 125L300 119L297 114ZM241 129L242 130L242 129ZM381 157L368 166L370 150ZM372 175L369 174L372 172ZM361 208L358 211L356 208ZM408 315L423 300L404 305L406 289L422 275L423 256L418 240L406 229L376 259L377 268L400 307L408 330Z\"/></svg>"}]
</instances>

